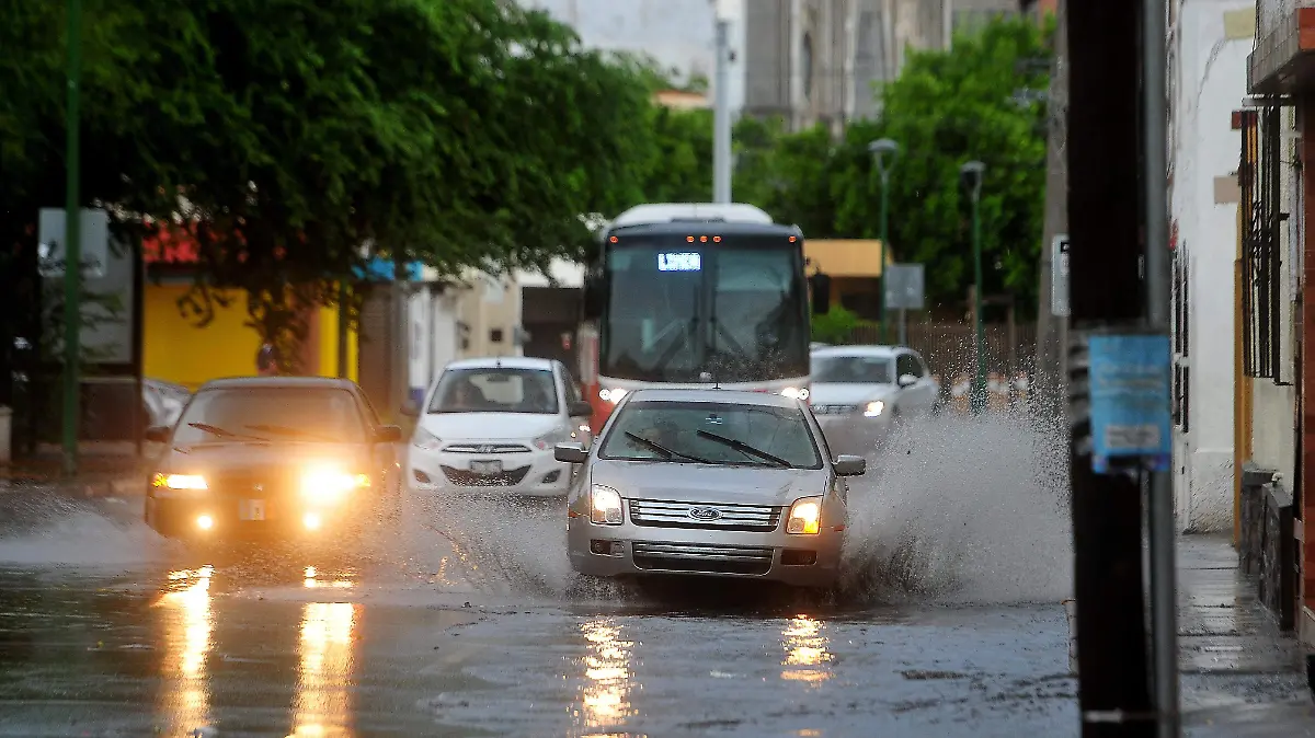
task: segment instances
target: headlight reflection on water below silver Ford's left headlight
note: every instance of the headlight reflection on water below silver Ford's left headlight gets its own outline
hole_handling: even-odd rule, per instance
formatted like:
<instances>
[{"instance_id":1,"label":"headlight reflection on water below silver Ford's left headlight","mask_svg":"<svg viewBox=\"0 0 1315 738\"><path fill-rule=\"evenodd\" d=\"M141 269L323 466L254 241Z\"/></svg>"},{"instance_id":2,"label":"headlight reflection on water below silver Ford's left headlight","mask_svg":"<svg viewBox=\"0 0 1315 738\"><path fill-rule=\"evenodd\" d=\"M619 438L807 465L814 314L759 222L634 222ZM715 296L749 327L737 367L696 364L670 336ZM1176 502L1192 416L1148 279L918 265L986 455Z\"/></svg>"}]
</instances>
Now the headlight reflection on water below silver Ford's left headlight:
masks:
<instances>
[{"instance_id":1,"label":"headlight reflection on water below silver Ford's left headlight","mask_svg":"<svg viewBox=\"0 0 1315 738\"><path fill-rule=\"evenodd\" d=\"M634 643L622 638L622 626L609 617L598 617L580 626L588 641L581 659L584 684L575 718L586 730L609 730L638 714L630 704L630 657Z\"/></svg>"}]
</instances>

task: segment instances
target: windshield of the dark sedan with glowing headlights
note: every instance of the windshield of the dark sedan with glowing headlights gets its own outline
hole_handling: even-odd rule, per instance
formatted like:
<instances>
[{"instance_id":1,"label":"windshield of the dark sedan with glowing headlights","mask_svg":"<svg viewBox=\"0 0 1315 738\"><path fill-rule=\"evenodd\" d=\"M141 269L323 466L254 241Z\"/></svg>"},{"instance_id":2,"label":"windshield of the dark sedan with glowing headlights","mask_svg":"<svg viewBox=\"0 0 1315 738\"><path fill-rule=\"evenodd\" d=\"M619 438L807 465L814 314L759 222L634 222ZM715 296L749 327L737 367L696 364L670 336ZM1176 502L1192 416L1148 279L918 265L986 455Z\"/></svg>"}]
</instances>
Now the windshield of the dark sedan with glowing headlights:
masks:
<instances>
[{"instance_id":1,"label":"windshield of the dark sedan with glowing headlights","mask_svg":"<svg viewBox=\"0 0 1315 738\"><path fill-rule=\"evenodd\" d=\"M356 398L337 387L222 387L201 390L174 431L174 443L363 443Z\"/></svg>"}]
</instances>

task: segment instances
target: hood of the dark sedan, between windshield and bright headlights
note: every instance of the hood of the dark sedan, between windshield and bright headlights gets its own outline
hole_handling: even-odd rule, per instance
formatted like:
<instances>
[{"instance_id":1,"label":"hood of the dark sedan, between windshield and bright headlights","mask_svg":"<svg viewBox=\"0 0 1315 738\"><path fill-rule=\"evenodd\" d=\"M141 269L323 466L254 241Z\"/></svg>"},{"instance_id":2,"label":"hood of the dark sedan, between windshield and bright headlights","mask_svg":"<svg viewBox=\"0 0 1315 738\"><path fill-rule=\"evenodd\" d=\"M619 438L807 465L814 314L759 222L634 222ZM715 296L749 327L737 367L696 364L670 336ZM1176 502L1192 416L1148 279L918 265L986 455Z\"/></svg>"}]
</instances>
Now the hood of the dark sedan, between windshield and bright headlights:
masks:
<instances>
[{"instance_id":1,"label":"hood of the dark sedan, between windshield and bright headlights","mask_svg":"<svg viewBox=\"0 0 1315 738\"><path fill-rule=\"evenodd\" d=\"M366 444L210 443L174 446L160 460L160 469L180 474L205 474L218 469L331 464L355 466L355 471L363 473L368 471L370 456Z\"/></svg>"}]
</instances>

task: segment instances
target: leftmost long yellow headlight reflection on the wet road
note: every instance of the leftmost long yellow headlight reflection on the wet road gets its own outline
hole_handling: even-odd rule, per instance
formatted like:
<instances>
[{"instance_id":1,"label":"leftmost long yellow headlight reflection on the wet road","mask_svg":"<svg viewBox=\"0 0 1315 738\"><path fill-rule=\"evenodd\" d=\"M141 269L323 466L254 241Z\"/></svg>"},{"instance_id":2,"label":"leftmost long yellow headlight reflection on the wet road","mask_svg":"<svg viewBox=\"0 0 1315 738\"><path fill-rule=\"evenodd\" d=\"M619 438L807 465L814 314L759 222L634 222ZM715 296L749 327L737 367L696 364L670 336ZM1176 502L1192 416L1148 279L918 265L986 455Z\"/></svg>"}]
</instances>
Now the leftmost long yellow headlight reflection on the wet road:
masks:
<instances>
[{"instance_id":1,"label":"leftmost long yellow headlight reflection on the wet road","mask_svg":"<svg viewBox=\"0 0 1315 738\"><path fill-rule=\"evenodd\" d=\"M210 575L214 569L172 571L168 590L155 601L163 613L164 659L160 675L164 689L156 710L178 731L210 724L210 685L206 661L213 642Z\"/></svg>"}]
</instances>

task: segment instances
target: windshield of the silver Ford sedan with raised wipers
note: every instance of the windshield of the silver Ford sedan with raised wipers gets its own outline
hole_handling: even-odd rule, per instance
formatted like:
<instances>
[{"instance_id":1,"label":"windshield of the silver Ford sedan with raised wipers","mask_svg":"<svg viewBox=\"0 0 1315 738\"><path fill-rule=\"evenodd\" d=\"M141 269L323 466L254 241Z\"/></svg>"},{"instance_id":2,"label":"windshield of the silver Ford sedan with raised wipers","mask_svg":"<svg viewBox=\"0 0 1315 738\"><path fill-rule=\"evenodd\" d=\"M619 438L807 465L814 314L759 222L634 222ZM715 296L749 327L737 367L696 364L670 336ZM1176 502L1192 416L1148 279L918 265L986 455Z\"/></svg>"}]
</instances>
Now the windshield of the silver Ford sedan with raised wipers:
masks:
<instances>
[{"instance_id":1,"label":"windshield of the silver Ford sedan with raised wipers","mask_svg":"<svg viewBox=\"0 0 1315 738\"><path fill-rule=\"evenodd\" d=\"M631 402L598 453L625 461L822 467L803 412L759 404Z\"/></svg>"}]
</instances>

